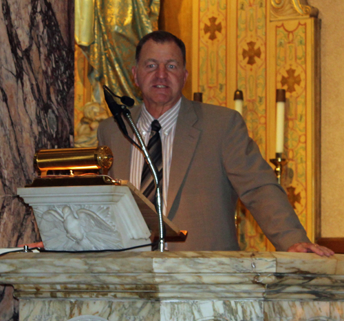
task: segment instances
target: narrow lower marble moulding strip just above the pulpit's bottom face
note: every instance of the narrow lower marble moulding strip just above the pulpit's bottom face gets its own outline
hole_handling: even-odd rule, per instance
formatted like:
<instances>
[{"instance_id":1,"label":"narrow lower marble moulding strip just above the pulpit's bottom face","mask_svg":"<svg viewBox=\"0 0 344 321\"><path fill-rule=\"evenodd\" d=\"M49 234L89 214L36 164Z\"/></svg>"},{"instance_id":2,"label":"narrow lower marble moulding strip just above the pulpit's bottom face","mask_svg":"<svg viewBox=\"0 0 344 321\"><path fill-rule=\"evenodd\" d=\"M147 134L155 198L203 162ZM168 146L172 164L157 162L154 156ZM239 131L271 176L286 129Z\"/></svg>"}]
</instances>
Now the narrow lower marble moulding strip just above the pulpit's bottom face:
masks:
<instances>
[{"instance_id":1,"label":"narrow lower marble moulding strip just above the pulpit's bottom face","mask_svg":"<svg viewBox=\"0 0 344 321\"><path fill-rule=\"evenodd\" d=\"M88 287L52 284L14 284L16 298L63 300L344 300L344 287L266 287L265 284L111 284Z\"/></svg>"}]
</instances>

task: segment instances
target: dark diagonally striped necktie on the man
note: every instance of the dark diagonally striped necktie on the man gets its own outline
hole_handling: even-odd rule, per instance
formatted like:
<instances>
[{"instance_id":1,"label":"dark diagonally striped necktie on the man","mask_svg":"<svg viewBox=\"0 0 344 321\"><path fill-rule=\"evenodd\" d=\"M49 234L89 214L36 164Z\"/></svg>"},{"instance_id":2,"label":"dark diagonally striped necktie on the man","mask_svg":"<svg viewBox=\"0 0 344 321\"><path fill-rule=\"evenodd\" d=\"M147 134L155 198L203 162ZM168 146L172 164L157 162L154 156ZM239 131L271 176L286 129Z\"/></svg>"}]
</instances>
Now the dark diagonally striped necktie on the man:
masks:
<instances>
[{"instance_id":1,"label":"dark diagonally striped necktie on the man","mask_svg":"<svg viewBox=\"0 0 344 321\"><path fill-rule=\"evenodd\" d=\"M155 119L151 123L151 135L149 136L148 152L151 155L151 160L158 169L158 176L160 178L160 192L162 193L162 145L159 131L161 129L160 123ZM155 184L151 169L147 162L144 162L141 176L140 190L144 196L146 196L153 205L155 205Z\"/></svg>"}]
</instances>

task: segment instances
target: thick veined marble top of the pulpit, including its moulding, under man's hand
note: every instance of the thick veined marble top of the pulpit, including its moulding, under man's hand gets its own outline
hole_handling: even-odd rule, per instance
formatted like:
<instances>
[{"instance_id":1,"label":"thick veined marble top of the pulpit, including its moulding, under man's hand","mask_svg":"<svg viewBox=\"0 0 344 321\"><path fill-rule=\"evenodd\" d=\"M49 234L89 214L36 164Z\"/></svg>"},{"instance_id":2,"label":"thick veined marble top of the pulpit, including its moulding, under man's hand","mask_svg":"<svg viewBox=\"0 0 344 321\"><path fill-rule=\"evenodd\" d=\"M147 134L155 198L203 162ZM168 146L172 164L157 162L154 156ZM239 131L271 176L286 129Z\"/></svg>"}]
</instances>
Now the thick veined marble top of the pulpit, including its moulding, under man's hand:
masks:
<instances>
[{"instance_id":1,"label":"thick veined marble top of the pulpit, including its moulding, under man's hand","mask_svg":"<svg viewBox=\"0 0 344 321\"><path fill-rule=\"evenodd\" d=\"M14 284L18 298L343 300L344 276L333 268L341 259L235 251L10 253L0 258L0 282ZM329 267L321 274L313 268L319 260Z\"/></svg>"}]
</instances>

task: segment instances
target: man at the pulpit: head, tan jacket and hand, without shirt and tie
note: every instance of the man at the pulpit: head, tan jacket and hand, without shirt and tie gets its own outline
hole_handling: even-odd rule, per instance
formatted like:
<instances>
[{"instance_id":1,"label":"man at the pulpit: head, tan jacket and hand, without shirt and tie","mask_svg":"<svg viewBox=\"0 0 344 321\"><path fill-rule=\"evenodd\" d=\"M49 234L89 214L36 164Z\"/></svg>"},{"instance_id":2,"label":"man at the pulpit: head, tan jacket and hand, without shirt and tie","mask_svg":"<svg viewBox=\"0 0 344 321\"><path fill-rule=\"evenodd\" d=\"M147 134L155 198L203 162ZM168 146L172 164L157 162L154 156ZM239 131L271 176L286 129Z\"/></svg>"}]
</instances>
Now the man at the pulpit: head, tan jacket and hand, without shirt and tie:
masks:
<instances>
[{"instance_id":1,"label":"man at the pulpit: head, tan jacket and hand, without shirt and tie","mask_svg":"<svg viewBox=\"0 0 344 321\"><path fill-rule=\"evenodd\" d=\"M156 119L179 101L186 81L184 48L175 39L168 32L152 32L138 45L133 76L147 111ZM140 106L131 110L134 121L140 110ZM100 124L98 141L113 151L110 175L129 179L132 147L112 117ZM240 114L183 96L173 141L167 216L189 236L185 243L170 243L169 249L238 250L234 218L238 196L277 250L333 253L310 242Z\"/></svg>"}]
</instances>

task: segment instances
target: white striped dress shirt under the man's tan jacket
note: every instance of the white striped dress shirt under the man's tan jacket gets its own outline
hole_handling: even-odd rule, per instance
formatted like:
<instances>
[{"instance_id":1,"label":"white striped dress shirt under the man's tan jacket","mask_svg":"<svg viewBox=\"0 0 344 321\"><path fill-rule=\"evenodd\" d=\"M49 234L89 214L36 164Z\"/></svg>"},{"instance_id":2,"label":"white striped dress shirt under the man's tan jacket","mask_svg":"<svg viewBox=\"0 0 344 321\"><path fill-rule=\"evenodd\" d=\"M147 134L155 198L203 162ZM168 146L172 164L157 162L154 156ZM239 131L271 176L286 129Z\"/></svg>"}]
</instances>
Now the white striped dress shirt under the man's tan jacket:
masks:
<instances>
[{"instance_id":1,"label":"white striped dress shirt under the man's tan jacket","mask_svg":"<svg viewBox=\"0 0 344 321\"><path fill-rule=\"evenodd\" d=\"M170 110L162 114L158 121L161 125L160 138L162 144L162 198L163 207L162 213L166 216L167 210L167 191L169 189L169 176L172 161L172 147L175 136L175 126L177 125L178 113L180 110L180 103L178 101ZM154 117L147 112L146 107L142 104L140 118L138 119L138 130L142 135L142 139L146 146L149 142L149 135L151 134L151 123ZM134 141L137 142L136 137ZM130 181L137 188L140 189L142 168L144 164L144 157L137 147L131 146L131 162L130 162Z\"/></svg>"}]
</instances>

